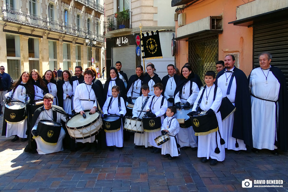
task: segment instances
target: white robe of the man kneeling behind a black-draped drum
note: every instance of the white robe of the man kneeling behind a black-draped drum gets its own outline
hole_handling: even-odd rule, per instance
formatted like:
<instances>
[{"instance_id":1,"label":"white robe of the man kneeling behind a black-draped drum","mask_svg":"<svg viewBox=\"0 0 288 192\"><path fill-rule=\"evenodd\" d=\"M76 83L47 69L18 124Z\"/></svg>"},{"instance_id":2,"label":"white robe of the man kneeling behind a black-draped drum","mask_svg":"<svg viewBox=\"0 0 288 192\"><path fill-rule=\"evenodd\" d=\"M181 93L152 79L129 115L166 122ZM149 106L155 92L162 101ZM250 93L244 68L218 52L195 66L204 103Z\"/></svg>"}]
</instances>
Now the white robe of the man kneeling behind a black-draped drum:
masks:
<instances>
[{"instance_id":1,"label":"white robe of the man kneeling behind a black-draped drum","mask_svg":"<svg viewBox=\"0 0 288 192\"><path fill-rule=\"evenodd\" d=\"M49 109L49 110L46 110L46 112L51 116L51 111L52 109ZM53 115L53 114L52 114ZM52 116L53 117L53 116ZM32 128L32 131L33 130L36 130L37 129L37 126L38 126L38 123L39 123L39 120L42 120L42 119L46 119L46 120L50 120L50 121L53 121L53 119L51 117L49 117L45 111L41 111L41 113L39 114L39 117L37 118L36 122L35 122L35 125L33 126ZM66 121L66 117L61 114L61 113L58 113L57 112L57 122L58 123L61 123L61 120L62 121ZM37 152L39 154L49 154L49 153L56 153L58 151L63 151L64 148L63 148L63 142L62 140L64 139L65 137L65 130L61 127L61 131L60 131L60 135L59 135L59 138L58 138L58 141L57 141L57 144L56 145L46 145L45 143L43 143L41 141L41 137L40 136L37 136L35 138L35 141L37 143Z\"/></svg>"}]
</instances>

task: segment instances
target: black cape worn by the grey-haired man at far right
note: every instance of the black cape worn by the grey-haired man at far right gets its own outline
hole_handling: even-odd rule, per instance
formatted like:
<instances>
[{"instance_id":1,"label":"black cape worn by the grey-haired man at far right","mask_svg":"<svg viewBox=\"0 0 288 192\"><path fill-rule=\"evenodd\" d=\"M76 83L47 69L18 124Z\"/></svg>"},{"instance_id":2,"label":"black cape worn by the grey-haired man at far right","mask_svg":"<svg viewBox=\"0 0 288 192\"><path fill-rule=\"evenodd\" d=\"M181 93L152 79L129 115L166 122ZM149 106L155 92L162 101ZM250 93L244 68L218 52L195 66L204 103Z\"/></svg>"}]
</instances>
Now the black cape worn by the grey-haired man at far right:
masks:
<instances>
[{"instance_id":1,"label":"black cape worn by the grey-haired man at far right","mask_svg":"<svg viewBox=\"0 0 288 192\"><path fill-rule=\"evenodd\" d=\"M288 130L287 130L287 122L285 118L288 116L288 93L287 93L287 85L286 79L283 75L282 71L277 67L271 66L270 71L276 77L278 82L280 83L280 89L278 94L278 130L277 130L277 141L276 146L283 150L287 151L288 148ZM251 75L251 73L250 73ZM248 82L250 81L250 75L248 77ZM234 117L235 118L235 117Z\"/></svg>"}]
</instances>

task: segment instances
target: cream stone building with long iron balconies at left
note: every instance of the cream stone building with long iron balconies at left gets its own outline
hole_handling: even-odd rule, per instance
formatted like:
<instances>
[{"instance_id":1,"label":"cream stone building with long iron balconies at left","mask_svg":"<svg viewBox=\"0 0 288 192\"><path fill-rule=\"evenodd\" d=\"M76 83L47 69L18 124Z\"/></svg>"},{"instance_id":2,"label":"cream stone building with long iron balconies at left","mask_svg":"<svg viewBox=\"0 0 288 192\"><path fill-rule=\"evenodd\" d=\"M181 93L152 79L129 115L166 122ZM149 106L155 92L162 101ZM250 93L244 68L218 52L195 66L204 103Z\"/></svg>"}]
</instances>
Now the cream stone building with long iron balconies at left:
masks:
<instances>
[{"instance_id":1,"label":"cream stone building with long iron balconies at left","mask_svg":"<svg viewBox=\"0 0 288 192\"><path fill-rule=\"evenodd\" d=\"M95 67L105 66L104 0L0 0L0 5L0 65L13 79L32 69L42 75L59 67L85 69L91 56Z\"/></svg>"}]
</instances>

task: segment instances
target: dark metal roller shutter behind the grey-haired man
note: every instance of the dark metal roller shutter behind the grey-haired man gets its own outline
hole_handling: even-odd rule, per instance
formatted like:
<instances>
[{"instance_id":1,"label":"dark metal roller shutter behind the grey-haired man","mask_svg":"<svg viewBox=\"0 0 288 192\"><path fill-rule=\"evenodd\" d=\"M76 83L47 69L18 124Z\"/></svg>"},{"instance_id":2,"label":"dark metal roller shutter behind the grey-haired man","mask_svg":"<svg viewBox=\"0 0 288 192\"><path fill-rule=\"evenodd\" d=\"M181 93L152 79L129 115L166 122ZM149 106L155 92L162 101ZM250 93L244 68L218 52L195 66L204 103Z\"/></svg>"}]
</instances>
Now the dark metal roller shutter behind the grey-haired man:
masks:
<instances>
[{"instance_id":1,"label":"dark metal roller shutter behind the grey-haired man","mask_svg":"<svg viewBox=\"0 0 288 192\"><path fill-rule=\"evenodd\" d=\"M253 26L253 67L259 67L258 55L270 52L271 65L281 69L288 85L288 20Z\"/></svg>"}]
</instances>

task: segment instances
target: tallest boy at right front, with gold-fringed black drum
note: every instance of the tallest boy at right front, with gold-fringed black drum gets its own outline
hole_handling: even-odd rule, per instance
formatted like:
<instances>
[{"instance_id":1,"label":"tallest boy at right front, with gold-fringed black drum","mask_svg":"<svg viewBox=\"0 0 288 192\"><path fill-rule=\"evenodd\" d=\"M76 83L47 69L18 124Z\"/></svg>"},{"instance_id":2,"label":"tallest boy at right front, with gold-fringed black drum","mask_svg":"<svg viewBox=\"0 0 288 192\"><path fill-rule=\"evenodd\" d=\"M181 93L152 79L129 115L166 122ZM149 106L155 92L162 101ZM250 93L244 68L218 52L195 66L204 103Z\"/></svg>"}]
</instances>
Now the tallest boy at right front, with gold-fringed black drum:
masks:
<instances>
[{"instance_id":1,"label":"tallest boy at right front, with gold-fringed black drum","mask_svg":"<svg viewBox=\"0 0 288 192\"><path fill-rule=\"evenodd\" d=\"M218 161L223 161L225 159L225 149L224 149L224 140L221 138L222 135L222 119L220 112L217 112L222 101L222 92L220 88L216 88L214 85L215 82L215 72L207 71L205 73L205 89L201 89L197 99L194 102L192 112L188 113L189 116L196 114L198 101L204 91L202 100L200 102L200 109L207 111L206 115L211 116L213 113L216 114L218 121L219 131L210 133L208 135L199 135L198 136L198 152L197 157L202 157L201 162L206 163L211 158L210 165L216 165ZM215 100L214 100L214 91L216 90ZM198 110L199 111L199 110Z\"/></svg>"}]
</instances>

